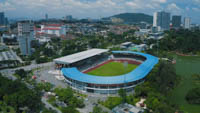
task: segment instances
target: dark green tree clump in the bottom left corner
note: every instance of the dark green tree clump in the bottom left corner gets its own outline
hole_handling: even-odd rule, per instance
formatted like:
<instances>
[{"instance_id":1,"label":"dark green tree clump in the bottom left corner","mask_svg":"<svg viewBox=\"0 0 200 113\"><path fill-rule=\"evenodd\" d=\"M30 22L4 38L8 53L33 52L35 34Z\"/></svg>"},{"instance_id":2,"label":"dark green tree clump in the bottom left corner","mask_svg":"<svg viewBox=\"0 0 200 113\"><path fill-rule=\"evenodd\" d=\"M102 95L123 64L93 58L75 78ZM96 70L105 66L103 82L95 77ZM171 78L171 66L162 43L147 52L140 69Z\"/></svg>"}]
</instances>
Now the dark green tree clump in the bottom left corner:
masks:
<instances>
[{"instance_id":1,"label":"dark green tree clump in the bottom left corner","mask_svg":"<svg viewBox=\"0 0 200 113\"><path fill-rule=\"evenodd\" d=\"M37 113L42 107L40 92L28 89L21 81L12 81L0 74L0 101L12 106L17 113L27 108L30 113Z\"/></svg>"}]
</instances>

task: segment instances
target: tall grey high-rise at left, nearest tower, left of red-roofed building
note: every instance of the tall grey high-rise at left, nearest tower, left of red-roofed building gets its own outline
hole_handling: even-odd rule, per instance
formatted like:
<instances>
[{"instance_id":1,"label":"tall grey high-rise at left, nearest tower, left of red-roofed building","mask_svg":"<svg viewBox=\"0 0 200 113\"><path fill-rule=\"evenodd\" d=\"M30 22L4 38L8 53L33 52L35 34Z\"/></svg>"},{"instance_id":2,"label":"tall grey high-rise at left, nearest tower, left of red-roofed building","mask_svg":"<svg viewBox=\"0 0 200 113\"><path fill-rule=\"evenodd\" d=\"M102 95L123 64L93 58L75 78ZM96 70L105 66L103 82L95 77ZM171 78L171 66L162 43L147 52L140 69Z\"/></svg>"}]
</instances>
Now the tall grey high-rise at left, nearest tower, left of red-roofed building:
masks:
<instances>
[{"instance_id":1,"label":"tall grey high-rise at left, nearest tower, left of red-roofed building","mask_svg":"<svg viewBox=\"0 0 200 113\"><path fill-rule=\"evenodd\" d=\"M22 55L31 55L31 41L34 38L34 24L32 21L18 23L18 41Z\"/></svg>"}]
</instances>

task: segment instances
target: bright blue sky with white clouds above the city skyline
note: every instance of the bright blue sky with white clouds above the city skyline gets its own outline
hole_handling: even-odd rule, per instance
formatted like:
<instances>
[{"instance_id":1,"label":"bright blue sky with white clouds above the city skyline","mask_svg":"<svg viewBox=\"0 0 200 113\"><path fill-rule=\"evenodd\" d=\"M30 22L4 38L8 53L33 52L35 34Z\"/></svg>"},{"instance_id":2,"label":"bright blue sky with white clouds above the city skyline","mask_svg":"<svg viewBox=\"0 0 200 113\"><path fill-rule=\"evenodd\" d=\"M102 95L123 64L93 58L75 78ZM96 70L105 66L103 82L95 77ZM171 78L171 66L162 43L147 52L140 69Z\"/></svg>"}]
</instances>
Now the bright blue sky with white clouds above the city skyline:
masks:
<instances>
[{"instance_id":1,"label":"bright blue sky with white clouds above the city skyline","mask_svg":"<svg viewBox=\"0 0 200 113\"><path fill-rule=\"evenodd\" d=\"M153 15L162 10L200 24L200 0L0 0L0 12L8 18L41 19L48 14L49 18L99 19L126 12Z\"/></svg>"}]
</instances>

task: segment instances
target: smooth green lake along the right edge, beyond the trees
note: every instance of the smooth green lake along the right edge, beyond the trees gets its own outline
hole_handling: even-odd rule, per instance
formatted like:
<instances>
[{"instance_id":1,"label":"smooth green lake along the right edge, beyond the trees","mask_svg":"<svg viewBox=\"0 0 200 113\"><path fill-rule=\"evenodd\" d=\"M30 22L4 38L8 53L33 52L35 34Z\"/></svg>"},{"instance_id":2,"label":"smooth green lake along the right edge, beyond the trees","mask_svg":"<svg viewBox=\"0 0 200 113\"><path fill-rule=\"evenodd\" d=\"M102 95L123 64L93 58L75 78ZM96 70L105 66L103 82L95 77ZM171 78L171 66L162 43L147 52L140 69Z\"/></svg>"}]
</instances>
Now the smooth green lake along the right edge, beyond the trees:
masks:
<instances>
[{"instance_id":1,"label":"smooth green lake along the right edge, beyond the trees","mask_svg":"<svg viewBox=\"0 0 200 113\"><path fill-rule=\"evenodd\" d=\"M200 57L176 56L176 73L180 75L180 84L171 92L169 99L180 106L186 113L200 113L200 105L188 104L185 100L187 92L196 87L192 74L200 74Z\"/></svg>"}]
</instances>

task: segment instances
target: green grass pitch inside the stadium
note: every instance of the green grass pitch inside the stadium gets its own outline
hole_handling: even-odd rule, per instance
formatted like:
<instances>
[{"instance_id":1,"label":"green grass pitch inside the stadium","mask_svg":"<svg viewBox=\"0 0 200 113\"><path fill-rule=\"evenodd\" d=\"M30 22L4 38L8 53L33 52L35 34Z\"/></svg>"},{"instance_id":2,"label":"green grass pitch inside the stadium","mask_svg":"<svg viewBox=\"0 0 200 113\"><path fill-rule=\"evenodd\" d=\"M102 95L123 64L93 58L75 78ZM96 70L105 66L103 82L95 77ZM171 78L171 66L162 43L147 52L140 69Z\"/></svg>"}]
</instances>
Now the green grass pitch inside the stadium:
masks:
<instances>
[{"instance_id":1,"label":"green grass pitch inside the stadium","mask_svg":"<svg viewBox=\"0 0 200 113\"><path fill-rule=\"evenodd\" d=\"M133 71L136 67L137 65L128 64L125 68L123 63L109 62L103 66L100 66L97 69L88 72L87 74L96 76L117 76L129 73Z\"/></svg>"}]
</instances>

